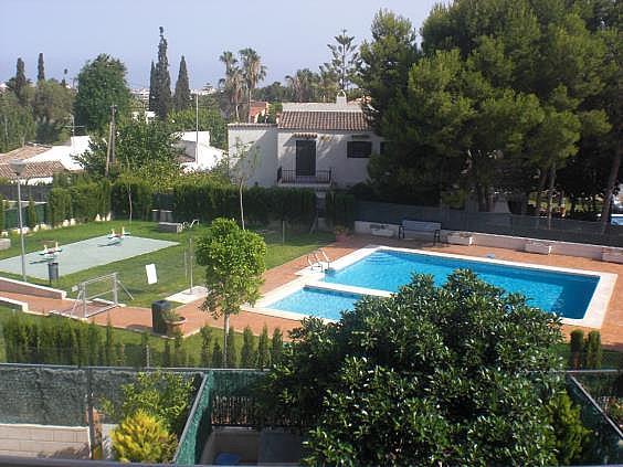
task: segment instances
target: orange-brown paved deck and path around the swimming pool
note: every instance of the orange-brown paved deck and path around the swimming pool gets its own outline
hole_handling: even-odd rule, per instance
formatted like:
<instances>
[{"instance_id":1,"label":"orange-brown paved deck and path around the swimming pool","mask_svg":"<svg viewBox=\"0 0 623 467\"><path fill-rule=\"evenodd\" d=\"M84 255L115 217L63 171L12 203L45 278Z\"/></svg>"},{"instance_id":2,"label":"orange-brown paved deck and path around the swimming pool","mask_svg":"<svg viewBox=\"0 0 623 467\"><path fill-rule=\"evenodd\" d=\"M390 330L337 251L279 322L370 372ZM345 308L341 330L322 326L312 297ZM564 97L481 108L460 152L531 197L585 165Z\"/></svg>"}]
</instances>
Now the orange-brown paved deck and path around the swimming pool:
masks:
<instances>
[{"instance_id":1,"label":"orange-brown paved deck and path around the swimming pool","mask_svg":"<svg viewBox=\"0 0 623 467\"><path fill-rule=\"evenodd\" d=\"M334 243L325 246L323 250L327 255L335 261L353 251L361 248L366 245L376 244L384 246L399 246L404 248L421 248L425 251L453 253L465 256L486 257L494 254L497 259L505 259L520 263L531 263L536 265L546 265L555 267L568 267L585 270L598 270L604 273L616 274L619 277L612 294L605 318L601 327L602 343L610 348L623 350L623 265L615 263L605 263L595 259L580 258L572 256L561 255L538 255L525 252L518 252L505 248L492 248L484 246L462 246L462 245L446 245L440 244L433 246L431 243L422 243L416 241L399 241L395 238L383 238L368 235L356 235L348 238L346 242ZM265 294L276 287L296 279L296 273L307 266L307 255L303 255L296 259L285 263L281 266L274 267L264 274L264 284L262 293ZM0 294L7 295L8 294ZM9 298L20 299L18 294L11 294ZM24 298L24 296L21 296ZM31 297L32 298L32 297ZM57 309L63 304L53 303L50 299L34 298L33 300L25 297L24 301L29 301L31 311L49 312L52 309ZM199 332L199 329L204 326L222 327L222 319L214 320L209 314L201 310L202 300L180 306L177 311L187 318L183 326L184 336L190 336ZM66 307L65 307L66 308ZM106 325L110 320L113 326L118 328L131 329L137 331L149 331L151 329L151 311L147 308L137 307L122 307L112 309L109 311L96 315L92 318L94 322ZM299 326L299 321L294 319L285 319L267 315L260 315L251 311L241 311L236 316L231 317L231 325L236 330L242 330L245 326L250 326L253 333L260 335L264 325L272 333L274 328L281 328L284 331L284 337L287 331ZM563 326L563 332L568 335L574 327Z\"/></svg>"}]
</instances>

